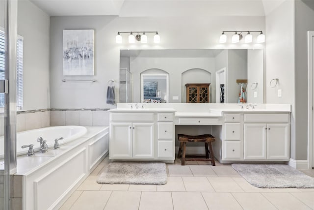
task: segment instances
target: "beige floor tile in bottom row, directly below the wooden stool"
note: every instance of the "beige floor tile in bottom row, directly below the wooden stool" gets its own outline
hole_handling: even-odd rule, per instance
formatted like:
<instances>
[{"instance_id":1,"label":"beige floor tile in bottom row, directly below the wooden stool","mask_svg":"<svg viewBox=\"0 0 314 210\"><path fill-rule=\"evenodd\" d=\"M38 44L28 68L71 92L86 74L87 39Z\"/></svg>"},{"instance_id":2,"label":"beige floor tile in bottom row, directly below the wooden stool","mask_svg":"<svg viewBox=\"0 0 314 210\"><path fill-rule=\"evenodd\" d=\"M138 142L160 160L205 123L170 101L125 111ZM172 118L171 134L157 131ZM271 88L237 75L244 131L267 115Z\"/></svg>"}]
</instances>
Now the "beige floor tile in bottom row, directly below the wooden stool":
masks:
<instances>
[{"instance_id":1,"label":"beige floor tile in bottom row, directly below the wooden stool","mask_svg":"<svg viewBox=\"0 0 314 210\"><path fill-rule=\"evenodd\" d=\"M208 210L200 192L172 192L174 210Z\"/></svg>"}]
</instances>

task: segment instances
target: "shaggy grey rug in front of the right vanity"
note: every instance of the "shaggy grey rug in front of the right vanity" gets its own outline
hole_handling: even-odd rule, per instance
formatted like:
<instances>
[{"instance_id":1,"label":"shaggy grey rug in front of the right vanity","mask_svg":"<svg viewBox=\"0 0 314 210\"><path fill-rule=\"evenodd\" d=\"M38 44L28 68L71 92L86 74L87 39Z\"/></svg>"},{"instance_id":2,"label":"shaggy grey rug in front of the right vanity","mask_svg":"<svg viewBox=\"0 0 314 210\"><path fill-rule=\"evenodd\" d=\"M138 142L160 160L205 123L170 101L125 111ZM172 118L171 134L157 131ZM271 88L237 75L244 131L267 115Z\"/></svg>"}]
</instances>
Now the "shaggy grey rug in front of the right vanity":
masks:
<instances>
[{"instance_id":1,"label":"shaggy grey rug in front of the right vanity","mask_svg":"<svg viewBox=\"0 0 314 210\"><path fill-rule=\"evenodd\" d=\"M260 188L314 188L314 178L284 164L231 165L250 184Z\"/></svg>"}]
</instances>

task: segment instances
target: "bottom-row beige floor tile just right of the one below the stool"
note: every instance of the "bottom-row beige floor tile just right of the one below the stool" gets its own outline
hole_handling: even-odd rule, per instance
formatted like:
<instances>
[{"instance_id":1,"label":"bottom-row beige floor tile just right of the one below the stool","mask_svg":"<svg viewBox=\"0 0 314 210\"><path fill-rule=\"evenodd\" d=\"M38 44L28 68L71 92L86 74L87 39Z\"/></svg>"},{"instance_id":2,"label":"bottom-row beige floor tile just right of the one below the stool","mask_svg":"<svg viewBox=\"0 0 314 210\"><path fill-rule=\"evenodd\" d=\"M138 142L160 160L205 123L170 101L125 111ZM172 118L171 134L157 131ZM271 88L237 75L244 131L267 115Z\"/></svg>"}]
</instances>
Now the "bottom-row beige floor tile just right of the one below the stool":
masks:
<instances>
[{"instance_id":1,"label":"bottom-row beige floor tile just right of the one below the stool","mask_svg":"<svg viewBox=\"0 0 314 210\"><path fill-rule=\"evenodd\" d=\"M209 210L242 210L229 192L202 192Z\"/></svg>"}]
</instances>

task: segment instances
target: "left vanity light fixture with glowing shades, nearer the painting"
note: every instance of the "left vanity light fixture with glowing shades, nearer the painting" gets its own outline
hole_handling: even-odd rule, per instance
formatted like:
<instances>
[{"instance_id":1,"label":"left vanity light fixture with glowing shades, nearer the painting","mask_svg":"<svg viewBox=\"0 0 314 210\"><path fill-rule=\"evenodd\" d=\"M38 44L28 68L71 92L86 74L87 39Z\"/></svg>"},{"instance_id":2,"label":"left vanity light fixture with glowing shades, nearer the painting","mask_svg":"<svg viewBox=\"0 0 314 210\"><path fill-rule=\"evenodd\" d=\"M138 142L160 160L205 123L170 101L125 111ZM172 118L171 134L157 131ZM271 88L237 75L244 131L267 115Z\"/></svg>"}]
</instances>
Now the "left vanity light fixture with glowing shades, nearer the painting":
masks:
<instances>
[{"instance_id":1,"label":"left vanity light fixture with glowing shades, nearer the painting","mask_svg":"<svg viewBox=\"0 0 314 210\"><path fill-rule=\"evenodd\" d=\"M154 35L154 43L158 44L160 43L160 36L158 34L158 31L118 31L118 34L116 35L116 43L121 44L122 43L122 36L120 33L130 33L129 35L129 43L135 43L135 39L137 41L140 41L141 43L145 44L148 42L148 37L146 33L155 33ZM136 36L133 35L133 33L137 33ZM140 34L142 33L142 34Z\"/></svg>"}]
</instances>

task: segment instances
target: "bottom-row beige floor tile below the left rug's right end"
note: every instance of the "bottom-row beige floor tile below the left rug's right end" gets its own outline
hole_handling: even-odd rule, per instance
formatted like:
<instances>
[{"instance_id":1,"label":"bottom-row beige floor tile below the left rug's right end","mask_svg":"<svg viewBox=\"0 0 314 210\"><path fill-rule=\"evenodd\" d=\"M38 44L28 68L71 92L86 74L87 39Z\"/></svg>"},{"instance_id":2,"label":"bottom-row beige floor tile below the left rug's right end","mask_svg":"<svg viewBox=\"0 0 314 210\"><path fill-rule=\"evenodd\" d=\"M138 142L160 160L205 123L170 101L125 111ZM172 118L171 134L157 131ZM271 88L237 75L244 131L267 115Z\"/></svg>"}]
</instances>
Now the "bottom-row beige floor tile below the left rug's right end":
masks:
<instances>
[{"instance_id":1,"label":"bottom-row beige floor tile below the left rug's right end","mask_svg":"<svg viewBox=\"0 0 314 210\"><path fill-rule=\"evenodd\" d=\"M139 210L173 210L171 192L142 192Z\"/></svg>"}]
</instances>

